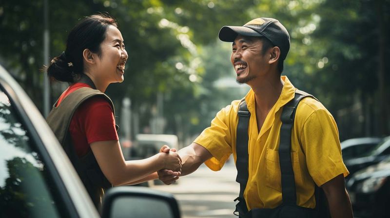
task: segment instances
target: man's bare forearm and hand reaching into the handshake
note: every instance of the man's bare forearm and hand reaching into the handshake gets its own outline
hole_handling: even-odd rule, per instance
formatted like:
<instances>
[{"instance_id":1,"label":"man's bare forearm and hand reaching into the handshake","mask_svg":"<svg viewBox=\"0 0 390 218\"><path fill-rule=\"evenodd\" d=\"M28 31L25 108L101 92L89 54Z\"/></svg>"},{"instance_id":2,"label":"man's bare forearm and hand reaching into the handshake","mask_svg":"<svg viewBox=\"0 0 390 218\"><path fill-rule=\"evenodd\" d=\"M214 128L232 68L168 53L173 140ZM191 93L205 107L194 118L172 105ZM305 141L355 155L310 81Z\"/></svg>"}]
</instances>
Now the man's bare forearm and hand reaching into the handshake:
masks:
<instances>
[{"instance_id":1,"label":"man's bare forearm and hand reaching into the handshake","mask_svg":"<svg viewBox=\"0 0 390 218\"><path fill-rule=\"evenodd\" d=\"M181 175L185 176L194 172L206 160L213 155L203 146L192 143L191 145L177 151L181 158ZM158 178L165 184L171 184L179 177L172 173L172 170L161 169L157 171Z\"/></svg>"}]
</instances>

